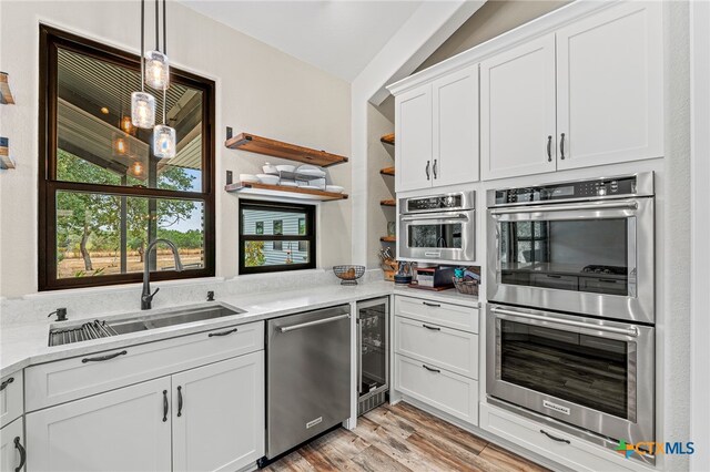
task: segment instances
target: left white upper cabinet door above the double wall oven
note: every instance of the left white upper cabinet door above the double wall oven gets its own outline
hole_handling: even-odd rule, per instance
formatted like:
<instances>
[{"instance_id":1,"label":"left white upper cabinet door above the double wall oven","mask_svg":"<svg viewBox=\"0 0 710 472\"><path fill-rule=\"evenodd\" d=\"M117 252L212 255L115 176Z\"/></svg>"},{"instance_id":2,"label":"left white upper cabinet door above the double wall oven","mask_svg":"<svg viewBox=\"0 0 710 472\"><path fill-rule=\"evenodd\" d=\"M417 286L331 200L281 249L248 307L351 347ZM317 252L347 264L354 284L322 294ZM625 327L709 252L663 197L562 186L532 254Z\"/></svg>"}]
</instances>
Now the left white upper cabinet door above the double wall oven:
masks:
<instances>
[{"instance_id":1,"label":"left white upper cabinet door above the double wall oven","mask_svg":"<svg viewBox=\"0 0 710 472\"><path fill-rule=\"evenodd\" d=\"M484 181L555 171L555 115L554 34L481 62Z\"/></svg>"}]
</instances>

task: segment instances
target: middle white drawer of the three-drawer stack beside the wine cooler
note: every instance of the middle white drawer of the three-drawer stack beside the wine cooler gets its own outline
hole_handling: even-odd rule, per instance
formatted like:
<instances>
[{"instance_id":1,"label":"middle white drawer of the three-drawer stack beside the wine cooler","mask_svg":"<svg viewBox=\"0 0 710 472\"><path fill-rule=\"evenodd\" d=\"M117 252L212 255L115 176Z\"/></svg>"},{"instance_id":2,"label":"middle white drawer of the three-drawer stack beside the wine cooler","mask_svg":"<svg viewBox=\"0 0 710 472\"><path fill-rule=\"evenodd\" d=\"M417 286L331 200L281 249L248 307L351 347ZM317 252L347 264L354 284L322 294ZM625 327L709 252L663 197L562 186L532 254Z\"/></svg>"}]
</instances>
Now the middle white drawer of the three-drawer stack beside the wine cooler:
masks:
<instances>
[{"instance_id":1,"label":"middle white drawer of the three-drawer stack beside the wine cooler","mask_svg":"<svg viewBox=\"0 0 710 472\"><path fill-rule=\"evenodd\" d=\"M478 378L478 335L395 317L395 352Z\"/></svg>"}]
</instances>

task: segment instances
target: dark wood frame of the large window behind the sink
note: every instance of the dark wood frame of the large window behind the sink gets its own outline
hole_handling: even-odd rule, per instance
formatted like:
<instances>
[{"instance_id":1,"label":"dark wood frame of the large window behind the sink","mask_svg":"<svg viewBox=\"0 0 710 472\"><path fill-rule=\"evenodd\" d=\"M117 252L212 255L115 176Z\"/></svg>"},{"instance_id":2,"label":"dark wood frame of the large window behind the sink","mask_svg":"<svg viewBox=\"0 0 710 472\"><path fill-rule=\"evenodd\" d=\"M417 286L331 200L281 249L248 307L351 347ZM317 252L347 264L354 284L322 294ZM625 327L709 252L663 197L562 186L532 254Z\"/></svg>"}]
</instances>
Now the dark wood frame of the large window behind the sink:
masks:
<instances>
[{"instance_id":1,"label":"dark wood frame of the large window behind the sink","mask_svg":"<svg viewBox=\"0 0 710 472\"><path fill-rule=\"evenodd\" d=\"M39 216L38 216L38 288L55 290L138 283L141 273L100 277L57 277L57 192L95 192L114 196L192 199L204 205L204 267L182 273L153 271L151 279L186 279L213 277L215 274L215 84L214 81L171 66L171 82L203 92L202 95L202 192L176 192L161 188L124 187L57 181L57 66L58 48L140 71L140 58L99 42L40 24L40 93L39 93Z\"/></svg>"}]
</instances>

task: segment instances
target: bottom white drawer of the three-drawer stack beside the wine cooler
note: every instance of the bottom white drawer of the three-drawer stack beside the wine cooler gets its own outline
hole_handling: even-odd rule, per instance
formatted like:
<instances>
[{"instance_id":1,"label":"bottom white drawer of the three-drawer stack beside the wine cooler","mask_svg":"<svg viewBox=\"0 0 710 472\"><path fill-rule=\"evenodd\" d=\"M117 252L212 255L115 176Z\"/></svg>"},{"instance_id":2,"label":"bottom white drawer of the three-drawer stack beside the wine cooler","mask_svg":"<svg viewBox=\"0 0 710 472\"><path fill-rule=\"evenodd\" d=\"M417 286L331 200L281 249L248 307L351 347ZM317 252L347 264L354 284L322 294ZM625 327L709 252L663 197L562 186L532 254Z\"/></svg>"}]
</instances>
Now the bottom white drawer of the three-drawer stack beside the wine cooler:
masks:
<instances>
[{"instance_id":1,"label":"bottom white drawer of the three-drawer stack beside the wine cooler","mask_svg":"<svg viewBox=\"0 0 710 472\"><path fill-rule=\"evenodd\" d=\"M426 367L425 367L426 366ZM478 424L478 382L395 356L395 389L471 424Z\"/></svg>"}]
</instances>

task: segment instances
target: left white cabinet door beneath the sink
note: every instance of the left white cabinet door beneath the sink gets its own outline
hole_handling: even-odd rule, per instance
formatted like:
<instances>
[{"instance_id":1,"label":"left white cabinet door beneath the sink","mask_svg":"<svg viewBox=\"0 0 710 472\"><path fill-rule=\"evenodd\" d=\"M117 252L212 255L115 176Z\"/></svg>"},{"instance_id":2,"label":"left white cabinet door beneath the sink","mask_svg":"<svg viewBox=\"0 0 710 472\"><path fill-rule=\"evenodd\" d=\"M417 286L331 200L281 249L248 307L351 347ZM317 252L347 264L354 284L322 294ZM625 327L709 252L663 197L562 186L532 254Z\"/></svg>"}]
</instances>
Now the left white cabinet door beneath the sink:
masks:
<instances>
[{"instance_id":1,"label":"left white cabinet door beneath the sink","mask_svg":"<svg viewBox=\"0 0 710 472\"><path fill-rule=\"evenodd\" d=\"M169 471L169 397L164 377L27 414L27 470Z\"/></svg>"}]
</instances>

